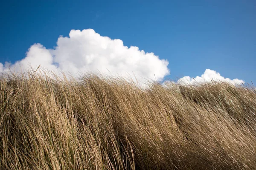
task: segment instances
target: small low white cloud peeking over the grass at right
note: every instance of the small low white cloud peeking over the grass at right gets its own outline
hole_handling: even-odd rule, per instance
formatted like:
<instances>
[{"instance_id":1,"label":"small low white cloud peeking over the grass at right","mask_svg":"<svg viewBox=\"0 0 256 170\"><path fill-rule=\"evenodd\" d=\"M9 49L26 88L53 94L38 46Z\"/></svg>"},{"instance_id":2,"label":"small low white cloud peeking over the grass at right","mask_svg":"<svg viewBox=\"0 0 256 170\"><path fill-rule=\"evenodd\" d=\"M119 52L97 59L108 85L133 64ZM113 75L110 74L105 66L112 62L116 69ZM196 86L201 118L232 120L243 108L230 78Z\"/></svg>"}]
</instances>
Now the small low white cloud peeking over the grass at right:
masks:
<instances>
[{"instance_id":1,"label":"small low white cloud peeking over the grass at right","mask_svg":"<svg viewBox=\"0 0 256 170\"><path fill-rule=\"evenodd\" d=\"M231 80L229 78L224 78L221 76L221 74L210 69L206 69L204 71L204 74L201 75L201 77L197 76L195 78L192 78L189 76L185 76L179 79L177 83L183 84L183 85L198 85L198 84L203 84L211 81L229 82L230 84L233 84L233 85L241 85L242 83L244 83L244 81L241 79Z\"/></svg>"}]
</instances>

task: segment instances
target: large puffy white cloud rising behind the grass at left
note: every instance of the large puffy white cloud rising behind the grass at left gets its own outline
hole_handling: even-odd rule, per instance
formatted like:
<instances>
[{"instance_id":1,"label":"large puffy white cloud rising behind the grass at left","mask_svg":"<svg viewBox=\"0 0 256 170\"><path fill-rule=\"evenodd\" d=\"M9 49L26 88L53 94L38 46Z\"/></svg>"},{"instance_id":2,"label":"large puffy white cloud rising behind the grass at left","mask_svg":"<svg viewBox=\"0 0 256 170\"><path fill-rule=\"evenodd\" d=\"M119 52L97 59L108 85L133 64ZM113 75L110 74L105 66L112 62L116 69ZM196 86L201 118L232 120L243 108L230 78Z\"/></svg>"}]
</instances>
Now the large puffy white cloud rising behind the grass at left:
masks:
<instances>
[{"instance_id":1,"label":"large puffy white cloud rising behind the grass at left","mask_svg":"<svg viewBox=\"0 0 256 170\"><path fill-rule=\"evenodd\" d=\"M12 65L0 63L0 72L36 69L39 65L50 71L68 73L101 73L105 76L122 76L145 82L145 79L162 80L169 74L168 61L154 53L145 53L138 47L128 48L122 40L102 37L93 29L71 30L69 37L59 37L54 49L41 44L32 45L26 57Z\"/></svg>"}]
</instances>

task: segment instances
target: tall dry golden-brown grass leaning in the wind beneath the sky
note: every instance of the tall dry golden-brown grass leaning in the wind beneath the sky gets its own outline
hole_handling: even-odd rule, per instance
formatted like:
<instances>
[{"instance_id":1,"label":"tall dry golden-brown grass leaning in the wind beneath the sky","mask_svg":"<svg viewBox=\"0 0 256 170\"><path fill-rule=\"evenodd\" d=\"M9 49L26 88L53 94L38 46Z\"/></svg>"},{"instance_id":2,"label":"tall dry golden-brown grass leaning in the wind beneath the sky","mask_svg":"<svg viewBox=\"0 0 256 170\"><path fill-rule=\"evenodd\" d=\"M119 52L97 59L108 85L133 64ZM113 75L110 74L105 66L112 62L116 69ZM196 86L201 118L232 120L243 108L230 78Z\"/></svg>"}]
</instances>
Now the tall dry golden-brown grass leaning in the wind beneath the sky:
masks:
<instances>
[{"instance_id":1,"label":"tall dry golden-brown grass leaning in the wind beneath the sky","mask_svg":"<svg viewBox=\"0 0 256 170\"><path fill-rule=\"evenodd\" d=\"M256 92L0 78L0 169L256 169Z\"/></svg>"}]
</instances>

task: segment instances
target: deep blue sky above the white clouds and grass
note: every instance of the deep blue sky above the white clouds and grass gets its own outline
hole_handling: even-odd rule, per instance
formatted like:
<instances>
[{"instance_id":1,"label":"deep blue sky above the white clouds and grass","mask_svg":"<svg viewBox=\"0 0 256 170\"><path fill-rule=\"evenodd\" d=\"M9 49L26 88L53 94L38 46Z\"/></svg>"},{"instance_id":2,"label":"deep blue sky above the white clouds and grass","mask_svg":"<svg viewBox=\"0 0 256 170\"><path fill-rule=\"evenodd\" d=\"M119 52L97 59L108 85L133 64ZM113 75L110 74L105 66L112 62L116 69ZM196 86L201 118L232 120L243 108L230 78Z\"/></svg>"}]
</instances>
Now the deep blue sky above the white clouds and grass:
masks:
<instances>
[{"instance_id":1,"label":"deep blue sky above the white clouds and grass","mask_svg":"<svg viewBox=\"0 0 256 170\"><path fill-rule=\"evenodd\" d=\"M256 83L255 0L23 0L0 6L0 62L47 49L72 29L92 28L169 61L164 79L201 76L208 68Z\"/></svg>"}]
</instances>

